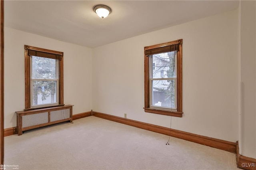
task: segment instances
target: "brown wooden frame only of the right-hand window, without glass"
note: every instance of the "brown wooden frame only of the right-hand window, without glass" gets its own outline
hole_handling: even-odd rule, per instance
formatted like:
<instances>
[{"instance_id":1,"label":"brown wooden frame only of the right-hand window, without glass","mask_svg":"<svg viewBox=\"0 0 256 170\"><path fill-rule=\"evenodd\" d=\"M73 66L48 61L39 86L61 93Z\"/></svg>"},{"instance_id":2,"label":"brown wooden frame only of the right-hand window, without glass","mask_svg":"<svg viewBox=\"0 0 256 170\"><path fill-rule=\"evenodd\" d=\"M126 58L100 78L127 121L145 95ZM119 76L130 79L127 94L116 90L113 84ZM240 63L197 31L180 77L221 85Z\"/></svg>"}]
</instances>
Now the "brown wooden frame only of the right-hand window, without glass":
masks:
<instances>
[{"instance_id":1,"label":"brown wooden frame only of the right-hand window, without glass","mask_svg":"<svg viewBox=\"0 0 256 170\"><path fill-rule=\"evenodd\" d=\"M160 115L168 115L174 117L182 117L182 42L183 40L176 40L172 42L160 43L156 45L146 46L144 47L144 80L145 80L145 106L144 111L148 113L156 113ZM167 46L177 45L177 111L170 110L161 110L156 108L150 108L150 63L148 53L149 51L156 51L156 53L161 52L161 50L166 50ZM174 47L175 48L175 47ZM163 51L166 52L166 51Z\"/></svg>"}]
</instances>

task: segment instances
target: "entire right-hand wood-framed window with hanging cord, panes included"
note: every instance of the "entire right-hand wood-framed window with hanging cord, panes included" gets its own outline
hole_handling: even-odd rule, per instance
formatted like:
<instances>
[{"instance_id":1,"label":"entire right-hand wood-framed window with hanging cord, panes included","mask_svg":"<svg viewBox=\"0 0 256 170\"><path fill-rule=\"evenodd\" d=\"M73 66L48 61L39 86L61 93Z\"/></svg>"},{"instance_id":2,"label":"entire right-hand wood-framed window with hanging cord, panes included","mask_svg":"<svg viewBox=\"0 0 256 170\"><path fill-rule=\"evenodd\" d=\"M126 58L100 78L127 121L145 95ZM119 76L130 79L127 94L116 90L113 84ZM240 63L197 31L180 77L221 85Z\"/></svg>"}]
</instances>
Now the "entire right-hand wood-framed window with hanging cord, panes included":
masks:
<instances>
[{"instance_id":1,"label":"entire right-hand wood-framed window with hanging cord, panes included","mask_svg":"<svg viewBox=\"0 0 256 170\"><path fill-rule=\"evenodd\" d=\"M145 112L182 117L182 39L144 47Z\"/></svg>"}]
</instances>

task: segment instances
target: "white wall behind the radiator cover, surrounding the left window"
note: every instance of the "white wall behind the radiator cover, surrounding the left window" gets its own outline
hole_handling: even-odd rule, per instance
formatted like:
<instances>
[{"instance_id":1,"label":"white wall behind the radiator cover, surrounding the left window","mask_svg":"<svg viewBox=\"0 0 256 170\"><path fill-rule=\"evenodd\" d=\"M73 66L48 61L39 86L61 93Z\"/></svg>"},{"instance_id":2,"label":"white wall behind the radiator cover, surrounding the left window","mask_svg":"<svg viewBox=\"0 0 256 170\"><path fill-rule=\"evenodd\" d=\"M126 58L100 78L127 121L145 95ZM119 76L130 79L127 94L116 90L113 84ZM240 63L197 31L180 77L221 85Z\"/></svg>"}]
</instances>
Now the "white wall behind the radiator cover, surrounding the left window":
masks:
<instances>
[{"instance_id":1,"label":"white wall behind the radiator cover, surrounding the left window","mask_svg":"<svg viewBox=\"0 0 256 170\"><path fill-rule=\"evenodd\" d=\"M25 108L24 45L64 52L64 104L73 114L92 109L92 49L4 28L4 128Z\"/></svg>"}]
</instances>

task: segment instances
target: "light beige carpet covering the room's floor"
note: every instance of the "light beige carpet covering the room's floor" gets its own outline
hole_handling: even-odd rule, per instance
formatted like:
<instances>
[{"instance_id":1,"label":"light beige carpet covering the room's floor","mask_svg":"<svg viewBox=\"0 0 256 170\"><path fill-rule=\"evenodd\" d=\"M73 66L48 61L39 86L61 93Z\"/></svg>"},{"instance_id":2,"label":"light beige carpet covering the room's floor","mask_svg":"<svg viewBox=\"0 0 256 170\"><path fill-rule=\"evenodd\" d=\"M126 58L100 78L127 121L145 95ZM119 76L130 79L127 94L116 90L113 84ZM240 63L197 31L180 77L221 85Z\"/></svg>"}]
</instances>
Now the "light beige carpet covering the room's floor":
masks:
<instances>
[{"instance_id":1,"label":"light beige carpet covering the room's floor","mask_svg":"<svg viewBox=\"0 0 256 170\"><path fill-rule=\"evenodd\" d=\"M19 170L233 170L230 152L86 117L4 138L4 164ZM6 170L13 167L6 167Z\"/></svg>"}]
</instances>

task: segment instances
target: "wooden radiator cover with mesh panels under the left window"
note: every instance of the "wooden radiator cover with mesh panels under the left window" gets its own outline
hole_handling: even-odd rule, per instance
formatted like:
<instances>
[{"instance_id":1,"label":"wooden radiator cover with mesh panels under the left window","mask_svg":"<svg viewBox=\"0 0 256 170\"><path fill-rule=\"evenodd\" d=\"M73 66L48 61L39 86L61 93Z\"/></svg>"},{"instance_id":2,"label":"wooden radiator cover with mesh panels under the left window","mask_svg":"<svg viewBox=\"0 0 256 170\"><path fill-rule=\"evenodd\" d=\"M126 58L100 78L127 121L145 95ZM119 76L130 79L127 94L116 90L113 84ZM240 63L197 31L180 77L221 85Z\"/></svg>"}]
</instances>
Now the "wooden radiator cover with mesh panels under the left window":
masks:
<instances>
[{"instance_id":1,"label":"wooden radiator cover with mesh panels under the left window","mask_svg":"<svg viewBox=\"0 0 256 170\"><path fill-rule=\"evenodd\" d=\"M72 122L72 105L17 111L18 135L25 130L44 127L65 121Z\"/></svg>"}]
</instances>

